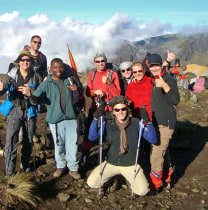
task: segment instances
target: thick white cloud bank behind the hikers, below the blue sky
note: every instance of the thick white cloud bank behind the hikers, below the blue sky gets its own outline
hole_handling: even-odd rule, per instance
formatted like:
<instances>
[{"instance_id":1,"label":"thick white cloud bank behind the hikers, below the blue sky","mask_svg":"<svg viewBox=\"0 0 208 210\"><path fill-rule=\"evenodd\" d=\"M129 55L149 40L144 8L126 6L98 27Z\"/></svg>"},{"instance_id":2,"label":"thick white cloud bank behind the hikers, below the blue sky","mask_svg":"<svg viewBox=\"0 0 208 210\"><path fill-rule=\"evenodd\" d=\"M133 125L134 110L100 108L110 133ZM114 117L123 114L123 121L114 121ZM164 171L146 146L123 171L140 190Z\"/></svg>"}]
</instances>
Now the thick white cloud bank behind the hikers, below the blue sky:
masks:
<instances>
[{"instance_id":1,"label":"thick white cloud bank behind the hikers, below the blue sky","mask_svg":"<svg viewBox=\"0 0 208 210\"><path fill-rule=\"evenodd\" d=\"M92 24L66 17L60 23L44 14L24 19L17 11L0 16L0 73L6 73L9 63L16 59L31 36L42 37L40 50L47 56L48 65L54 57L69 63L67 44L74 56L78 71L92 68L93 56L98 51L105 52L110 61L123 40L138 41L167 33L207 32L204 25L185 25L178 29L171 23L148 23L136 21L126 15L116 13L105 23Z\"/></svg>"}]
</instances>

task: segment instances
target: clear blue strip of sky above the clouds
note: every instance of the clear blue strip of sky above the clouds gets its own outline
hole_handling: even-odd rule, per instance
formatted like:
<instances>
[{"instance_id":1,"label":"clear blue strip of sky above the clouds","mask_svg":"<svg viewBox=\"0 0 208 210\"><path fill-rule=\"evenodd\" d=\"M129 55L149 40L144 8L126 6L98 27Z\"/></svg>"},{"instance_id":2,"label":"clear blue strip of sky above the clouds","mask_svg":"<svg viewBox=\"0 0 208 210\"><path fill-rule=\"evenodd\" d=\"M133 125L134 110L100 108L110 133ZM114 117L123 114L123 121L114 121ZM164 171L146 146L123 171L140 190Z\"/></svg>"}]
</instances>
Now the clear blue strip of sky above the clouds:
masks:
<instances>
[{"instance_id":1,"label":"clear blue strip of sky above the clouds","mask_svg":"<svg viewBox=\"0 0 208 210\"><path fill-rule=\"evenodd\" d=\"M128 15L136 20L171 22L173 25L203 24L208 21L207 0L1 0L0 14L20 12L29 18L46 14L49 18L63 21L65 17L91 23L105 22L115 13Z\"/></svg>"}]
</instances>

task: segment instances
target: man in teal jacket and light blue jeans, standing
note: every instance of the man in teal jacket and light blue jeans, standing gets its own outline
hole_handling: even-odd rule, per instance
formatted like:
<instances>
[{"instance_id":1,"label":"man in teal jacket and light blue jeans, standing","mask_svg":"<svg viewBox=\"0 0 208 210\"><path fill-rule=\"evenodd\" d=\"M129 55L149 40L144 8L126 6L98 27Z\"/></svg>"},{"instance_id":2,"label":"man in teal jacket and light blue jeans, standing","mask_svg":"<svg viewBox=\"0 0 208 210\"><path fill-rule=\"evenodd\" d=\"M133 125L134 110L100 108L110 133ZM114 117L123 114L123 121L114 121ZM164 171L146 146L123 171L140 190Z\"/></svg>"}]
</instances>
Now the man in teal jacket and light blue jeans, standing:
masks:
<instances>
[{"instance_id":1,"label":"man in teal jacket and light blue jeans, standing","mask_svg":"<svg viewBox=\"0 0 208 210\"><path fill-rule=\"evenodd\" d=\"M68 167L69 175L80 179L78 172L77 116L79 114L79 82L74 76L64 76L64 64L60 58L51 60L52 74L47 76L35 92L26 87L23 92L34 104L47 103L46 121L55 146L57 170L54 177L62 176Z\"/></svg>"}]
</instances>

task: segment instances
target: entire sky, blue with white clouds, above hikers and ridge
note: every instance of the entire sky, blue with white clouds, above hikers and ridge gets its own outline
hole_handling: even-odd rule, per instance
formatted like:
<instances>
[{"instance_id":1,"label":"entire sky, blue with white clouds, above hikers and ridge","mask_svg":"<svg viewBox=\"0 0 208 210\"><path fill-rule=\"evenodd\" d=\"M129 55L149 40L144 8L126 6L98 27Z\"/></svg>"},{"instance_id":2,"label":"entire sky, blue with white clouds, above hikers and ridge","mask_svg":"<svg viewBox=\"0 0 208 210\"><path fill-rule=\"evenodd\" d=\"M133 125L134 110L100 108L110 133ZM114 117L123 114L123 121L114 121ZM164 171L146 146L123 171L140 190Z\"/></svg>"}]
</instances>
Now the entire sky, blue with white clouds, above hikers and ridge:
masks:
<instances>
[{"instance_id":1,"label":"entire sky, blue with white clouds, above hikers and ridge","mask_svg":"<svg viewBox=\"0 0 208 210\"><path fill-rule=\"evenodd\" d=\"M48 63L68 62L67 43L79 71L103 51L110 61L123 40L148 42L164 34L208 33L208 0L0 0L0 73L31 36L42 37ZM171 51L178 51L171 46ZM138 54L143 60L145 49Z\"/></svg>"}]
</instances>

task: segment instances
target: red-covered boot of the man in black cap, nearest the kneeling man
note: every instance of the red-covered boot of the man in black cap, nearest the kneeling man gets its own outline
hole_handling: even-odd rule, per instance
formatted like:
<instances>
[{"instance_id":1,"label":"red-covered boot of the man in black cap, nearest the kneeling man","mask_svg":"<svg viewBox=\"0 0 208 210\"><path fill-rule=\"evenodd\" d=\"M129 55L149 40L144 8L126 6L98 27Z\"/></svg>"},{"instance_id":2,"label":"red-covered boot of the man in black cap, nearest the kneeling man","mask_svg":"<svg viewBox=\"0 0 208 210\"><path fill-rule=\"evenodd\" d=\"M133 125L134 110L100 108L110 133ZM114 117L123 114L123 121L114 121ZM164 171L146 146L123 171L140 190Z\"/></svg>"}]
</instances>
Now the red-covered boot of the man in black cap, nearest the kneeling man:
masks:
<instances>
[{"instance_id":1,"label":"red-covered boot of the man in black cap, nearest the kneeling man","mask_svg":"<svg viewBox=\"0 0 208 210\"><path fill-rule=\"evenodd\" d=\"M150 190L159 190L163 186L162 172L151 170L150 172Z\"/></svg>"}]
</instances>

